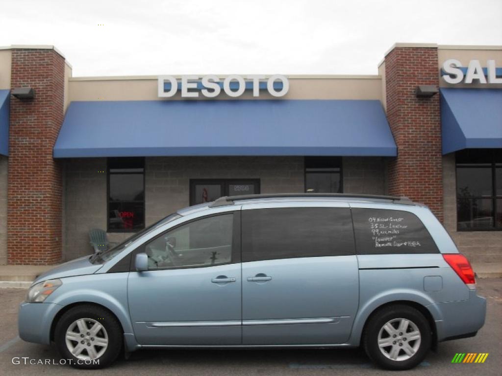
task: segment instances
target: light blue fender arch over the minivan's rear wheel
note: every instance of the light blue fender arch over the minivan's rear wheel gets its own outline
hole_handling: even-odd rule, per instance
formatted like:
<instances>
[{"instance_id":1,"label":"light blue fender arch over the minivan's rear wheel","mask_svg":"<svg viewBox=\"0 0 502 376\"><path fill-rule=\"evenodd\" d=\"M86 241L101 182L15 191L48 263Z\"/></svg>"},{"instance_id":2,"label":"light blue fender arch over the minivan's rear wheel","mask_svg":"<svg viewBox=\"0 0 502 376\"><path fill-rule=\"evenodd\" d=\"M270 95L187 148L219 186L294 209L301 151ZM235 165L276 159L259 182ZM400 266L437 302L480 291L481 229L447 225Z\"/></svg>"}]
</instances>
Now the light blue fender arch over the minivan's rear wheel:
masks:
<instances>
[{"instance_id":1,"label":"light blue fender arch over the minivan's rear wheel","mask_svg":"<svg viewBox=\"0 0 502 376\"><path fill-rule=\"evenodd\" d=\"M372 296L371 299L359 303L359 309L354 319L348 343L351 346L359 346L362 329L369 315L378 307L395 301L411 301L418 303L430 312L434 321L443 319L441 312L433 304L434 301L423 292L413 289L385 290L378 295Z\"/></svg>"}]
</instances>

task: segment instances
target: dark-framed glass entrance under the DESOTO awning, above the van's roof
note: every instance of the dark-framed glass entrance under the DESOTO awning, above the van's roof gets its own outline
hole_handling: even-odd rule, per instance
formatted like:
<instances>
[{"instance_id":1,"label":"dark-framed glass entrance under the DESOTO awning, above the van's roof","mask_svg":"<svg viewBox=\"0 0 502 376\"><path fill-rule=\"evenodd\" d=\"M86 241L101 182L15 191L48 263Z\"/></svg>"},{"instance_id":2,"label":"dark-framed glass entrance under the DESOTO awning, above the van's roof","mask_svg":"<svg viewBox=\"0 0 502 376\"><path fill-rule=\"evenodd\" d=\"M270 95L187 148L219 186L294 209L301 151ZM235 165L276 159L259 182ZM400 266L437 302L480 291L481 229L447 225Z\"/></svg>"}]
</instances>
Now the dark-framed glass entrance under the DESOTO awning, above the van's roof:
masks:
<instances>
[{"instance_id":1,"label":"dark-framed glass entrance under the DESOTO awning, above the van's roof","mask_svg":"<svg viewBox=\"0 0 502 376\"><path fill-rule=\"evenodd\" d=\"M190 205L208 203L222 196L257 195L259 179L192 179Z\"/></svg>"}]
</instances>

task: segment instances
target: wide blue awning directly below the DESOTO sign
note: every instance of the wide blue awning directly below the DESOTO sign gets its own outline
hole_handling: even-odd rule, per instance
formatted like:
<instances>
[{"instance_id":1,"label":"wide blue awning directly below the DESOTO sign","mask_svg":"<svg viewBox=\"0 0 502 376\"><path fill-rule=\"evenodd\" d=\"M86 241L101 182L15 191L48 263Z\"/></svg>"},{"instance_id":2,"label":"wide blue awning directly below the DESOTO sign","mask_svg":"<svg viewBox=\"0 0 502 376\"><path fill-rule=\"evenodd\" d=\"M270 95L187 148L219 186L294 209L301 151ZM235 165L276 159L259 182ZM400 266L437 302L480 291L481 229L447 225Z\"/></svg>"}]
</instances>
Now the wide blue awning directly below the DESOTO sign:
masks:
<instances>
[{"instance_id":1,"label":"wide blue awning directly below the DESOTO sign","mask_svg":"<svg viewBox=\"0 0 502 376\"><path fill-rule=\"evenodd\" d=\"M72 102L54 157L381 155L396 144L377 100Z\"/></svg>"}]
</instances>

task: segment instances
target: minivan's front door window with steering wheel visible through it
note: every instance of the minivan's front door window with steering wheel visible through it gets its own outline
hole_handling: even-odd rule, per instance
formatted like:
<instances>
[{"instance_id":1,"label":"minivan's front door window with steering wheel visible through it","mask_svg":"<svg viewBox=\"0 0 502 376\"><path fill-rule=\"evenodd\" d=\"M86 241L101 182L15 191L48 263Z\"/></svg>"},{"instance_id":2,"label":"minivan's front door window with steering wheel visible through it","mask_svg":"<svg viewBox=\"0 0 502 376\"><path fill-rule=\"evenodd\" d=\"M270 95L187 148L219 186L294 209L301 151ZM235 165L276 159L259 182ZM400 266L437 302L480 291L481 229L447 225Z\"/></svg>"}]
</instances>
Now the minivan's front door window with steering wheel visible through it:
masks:
<instances>
[{"instance_id":1,"label":"minivan's front door window with steering wheel visible through it","mask_svg":"<svg viewBox=\"0 0 502 376\"><path fill-rule=\"evenodd\" d=\"M203 218L145 245L149 269L227 264L232 258L233 213Z\"/></svg>"}]
</instances>

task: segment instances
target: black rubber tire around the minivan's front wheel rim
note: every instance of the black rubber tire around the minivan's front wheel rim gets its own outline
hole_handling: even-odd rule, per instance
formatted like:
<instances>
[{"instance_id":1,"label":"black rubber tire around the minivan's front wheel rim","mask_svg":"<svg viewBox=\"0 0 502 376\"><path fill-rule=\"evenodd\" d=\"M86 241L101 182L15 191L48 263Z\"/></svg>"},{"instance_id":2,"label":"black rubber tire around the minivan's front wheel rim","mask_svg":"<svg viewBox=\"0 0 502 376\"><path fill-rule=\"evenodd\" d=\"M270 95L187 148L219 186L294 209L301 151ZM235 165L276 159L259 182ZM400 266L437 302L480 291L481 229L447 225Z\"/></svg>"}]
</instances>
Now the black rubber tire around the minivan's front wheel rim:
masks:
<instances>
[{"instance_id":1,"label":"black rubber tire around the minivan's front wheel rim","mask_svg":"<svg viewBox=\"0 0 502 376\"><path fill-rule=\"evenodd\" d=\"M79 319L91 319L95 322L99 322L105 330L100 331L97 334L98 336L106 335L108 340L108 345L104 349L104 352L96 358L98 360L97 363L94 363L93 361L83 361L82 359L77 358L70 352L66 344L67 330L70 325ZM87 323L88 327L91 327L90 325L93 324L93 321L89 320ZM80 333L80 331L78 331L78 333ZM86 333L84 335L86 335ZM90 343L90 339L88 338L90 338L90 335L82 338L82 340L88 340L88 343ZM92 337L92 340L94 341L94 337ZM83 369L98 369L110 365L120 354L123 345L123 333L120 323L110 312L96 305L85 304L75 306L61 316L54 331L54 341L56 342L56 346L61 354L61 357L63 359L70 359L67 360L67 362L69 362L71 366ZM78 345L78 341L72 341L71 343L74 346ZM87 345L87 343L84 343L84 345ZM103 347L93 346L94 349L98 350L103 349ZM97 354L99 354L99 352L97 352ZM85 349L81 355L89 356L87 349Z\"/></svg>"}]
</instances>

